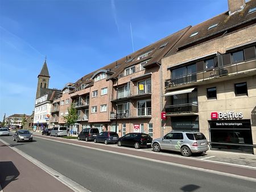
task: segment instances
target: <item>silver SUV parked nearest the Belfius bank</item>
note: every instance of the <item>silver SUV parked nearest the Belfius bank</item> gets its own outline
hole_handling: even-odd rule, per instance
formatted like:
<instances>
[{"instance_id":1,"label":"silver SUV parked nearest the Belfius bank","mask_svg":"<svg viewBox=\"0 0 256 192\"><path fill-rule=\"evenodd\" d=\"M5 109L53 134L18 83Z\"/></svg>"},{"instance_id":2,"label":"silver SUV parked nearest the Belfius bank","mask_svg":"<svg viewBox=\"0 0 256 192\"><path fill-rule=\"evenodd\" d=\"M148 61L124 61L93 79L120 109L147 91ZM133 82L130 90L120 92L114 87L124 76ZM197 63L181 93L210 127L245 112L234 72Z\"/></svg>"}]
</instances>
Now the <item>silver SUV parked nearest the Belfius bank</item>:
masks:
<instances>
[{"instance_id":1,"label":"silver SUV parked nearest the Belfius bank","mask_svg":"<svg viewBox=\"0 0 256 192\"><path fill-rule=\"evenodd\" d=\"M151 146L155 152L162 149L178 151L185 157L191 156L192 153L203 153L209 149L207 139L201 132L172 131L163 137L154 139Z\"/></svg>"}]
</instances>

